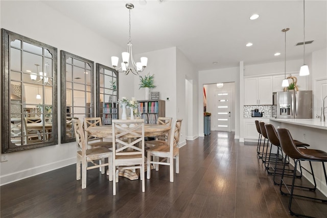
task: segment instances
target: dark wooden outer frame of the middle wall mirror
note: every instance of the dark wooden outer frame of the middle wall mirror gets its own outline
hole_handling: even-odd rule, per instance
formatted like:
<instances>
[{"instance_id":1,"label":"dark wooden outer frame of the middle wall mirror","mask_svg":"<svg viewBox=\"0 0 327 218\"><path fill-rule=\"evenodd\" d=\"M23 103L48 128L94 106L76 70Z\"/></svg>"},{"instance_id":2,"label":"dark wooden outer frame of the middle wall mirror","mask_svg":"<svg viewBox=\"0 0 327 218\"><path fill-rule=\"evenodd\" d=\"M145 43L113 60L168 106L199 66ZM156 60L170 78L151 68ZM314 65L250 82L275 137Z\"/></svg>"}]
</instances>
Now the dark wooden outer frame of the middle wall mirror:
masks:
<instances>
[{"instance_id":1,"label":"dark wooden outer frame of the middle wall mirror","mask_svg":"<svg viewBox=\"0 0 327 218\"><path fill-rule=\"evenodd\" d=\"M75 137L66 139L66 60L68 58L73 58L88 63L90 66L90 77L91 77L90 117L94 117L95 115L94 112L95 111L95 99L94 99L95 85L94 85L94 61L88 60L86 58L77 56L75 54L63 50L60 51L60 56L61 56L61 126L60 128L61 128L61 144L63 144L63 143L76 141Z\"/></svg>"}]
</instances>

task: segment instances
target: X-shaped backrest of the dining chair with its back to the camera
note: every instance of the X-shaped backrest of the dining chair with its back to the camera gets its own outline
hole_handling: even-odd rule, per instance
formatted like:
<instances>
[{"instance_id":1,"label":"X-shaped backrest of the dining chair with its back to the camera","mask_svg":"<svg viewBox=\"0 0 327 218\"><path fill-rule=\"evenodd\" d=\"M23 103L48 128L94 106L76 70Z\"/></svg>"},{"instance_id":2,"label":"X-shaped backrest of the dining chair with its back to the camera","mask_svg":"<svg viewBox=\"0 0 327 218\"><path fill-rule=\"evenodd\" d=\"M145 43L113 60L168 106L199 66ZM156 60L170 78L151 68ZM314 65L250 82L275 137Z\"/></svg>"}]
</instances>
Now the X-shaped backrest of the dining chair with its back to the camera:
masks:
<instances>
[{"instance_id":1,"label":"X-shaped backrest of the dining chair with its back to the camera","mask_svg":"<svg viewBox=\"0 0 327 218\"><path fill-rule=\"evenodd\" d=\"M113 119L112 144L116 143L119 143L119 146L118 148L112 146L113 159L116 159L117 156L124 156L124 159L134 155L142 155L144 157L144 119ZM141 143L141 147L139 143Z\"/></svg>"}]
</instances>

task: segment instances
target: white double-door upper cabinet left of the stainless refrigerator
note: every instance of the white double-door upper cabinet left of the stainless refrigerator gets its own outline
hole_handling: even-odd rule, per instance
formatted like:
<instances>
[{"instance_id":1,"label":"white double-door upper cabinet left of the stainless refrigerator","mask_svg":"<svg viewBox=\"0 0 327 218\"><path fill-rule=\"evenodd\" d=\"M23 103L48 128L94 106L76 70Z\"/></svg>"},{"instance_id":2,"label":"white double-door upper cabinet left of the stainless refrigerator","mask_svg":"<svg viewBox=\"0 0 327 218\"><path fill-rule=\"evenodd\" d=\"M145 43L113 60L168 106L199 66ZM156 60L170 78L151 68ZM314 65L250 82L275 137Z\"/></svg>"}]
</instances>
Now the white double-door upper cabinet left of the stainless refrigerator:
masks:
<instances>
[{"instance_id":1,"label":"white double-door upper cabinet left of the stainless refrigerator","mask_svg":"<svg viewBox=\"0 0 327 218\"><path fill-rule=\"evenodd\" d=\"M272 76L244 79L244 105L272 104Z\"/></svg>"}]
</instances>

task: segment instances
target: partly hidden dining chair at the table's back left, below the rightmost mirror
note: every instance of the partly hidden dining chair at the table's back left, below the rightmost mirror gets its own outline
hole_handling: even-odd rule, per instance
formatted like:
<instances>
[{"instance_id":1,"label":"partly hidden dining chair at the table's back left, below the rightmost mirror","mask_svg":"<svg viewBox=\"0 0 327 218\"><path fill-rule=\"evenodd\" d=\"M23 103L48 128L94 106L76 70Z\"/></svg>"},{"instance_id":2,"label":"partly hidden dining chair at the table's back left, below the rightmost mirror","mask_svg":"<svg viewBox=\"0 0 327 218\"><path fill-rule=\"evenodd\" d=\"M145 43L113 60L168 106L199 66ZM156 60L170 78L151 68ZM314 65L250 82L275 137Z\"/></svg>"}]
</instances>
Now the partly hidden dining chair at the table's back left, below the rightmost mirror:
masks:
<instances>
[{"instance_id":1,"label":"partly hidden dining chair at the table's back left, below the rightmost mirror","mask_svg":"<svg viewBox=\"0 0 327 218\"><path fill-rule=\"evenodd\" d=\"M105 147L112 149L112 142L103 141L103 138L89 136L86 129L94 126L102 126L101 117L85 117L84 118L84 135L88 148Z\"/></svg>"}]
</instances>

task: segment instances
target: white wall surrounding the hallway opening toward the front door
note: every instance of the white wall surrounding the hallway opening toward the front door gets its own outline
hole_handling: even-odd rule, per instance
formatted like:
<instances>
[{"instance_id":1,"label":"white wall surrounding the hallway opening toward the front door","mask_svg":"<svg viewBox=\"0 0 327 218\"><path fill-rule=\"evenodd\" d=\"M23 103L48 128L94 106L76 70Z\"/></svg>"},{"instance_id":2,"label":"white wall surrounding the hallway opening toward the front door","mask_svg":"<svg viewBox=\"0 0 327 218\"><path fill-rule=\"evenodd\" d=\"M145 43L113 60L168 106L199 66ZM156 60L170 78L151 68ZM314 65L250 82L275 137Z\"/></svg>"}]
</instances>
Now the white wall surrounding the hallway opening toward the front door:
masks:
<instances>
[{"instance_id":1,"label":"white wall surrounding the hallway opening toward the front door","mask_svg":"<svg viewBox=\"0 0 327 218\"><path fill-rule=\"evenodd\" d=\"M208 71L199 71L199 89L198 89L198 118L199 118L199 136L204 136L204 129L203 129L203 85L204 84L213 84L213 83L219 83L219 82L235 82L236 86L236 94L235 94L235 100L233 102L236 102L236 108L235 113L240 113L240 108L238 107L239 99L239 68L224 68L224 69L216 69L216 70L208 70ZM237 121L236 117L236 121ZM235 135L239 135L239 124L235 124Z\"/></svg>"}]
</instances>

